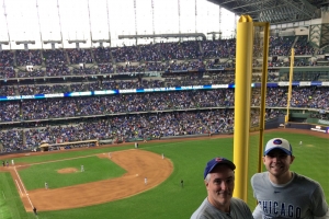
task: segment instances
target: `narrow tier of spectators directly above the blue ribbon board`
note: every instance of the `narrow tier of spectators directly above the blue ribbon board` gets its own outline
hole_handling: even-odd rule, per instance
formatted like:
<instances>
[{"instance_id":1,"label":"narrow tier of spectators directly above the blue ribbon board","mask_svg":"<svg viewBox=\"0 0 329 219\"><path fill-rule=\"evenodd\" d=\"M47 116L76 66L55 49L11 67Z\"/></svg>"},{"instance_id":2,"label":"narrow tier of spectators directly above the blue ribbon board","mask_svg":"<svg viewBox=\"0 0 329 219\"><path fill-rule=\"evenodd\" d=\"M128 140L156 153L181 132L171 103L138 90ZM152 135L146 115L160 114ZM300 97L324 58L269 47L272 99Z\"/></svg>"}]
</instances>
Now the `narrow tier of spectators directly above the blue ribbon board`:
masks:
<instances>
[{"instance_id":1,"label":"narrow tier of spectators directly above the blue ribbon board","mask_svg":"<svg viewBox=\"0 0 329 219\"><path fill-rule=\"evenodd\" d=\"M73 71L79 71L75 69ZM91 69L90 73L94 73ZM319 74L309 74L311 78L306 78L307 74L294 73L295 81L317 81ZM288 78L281 77L281 81L287 81ZM155 83L156 81L156 83ZM269 70L268 82L279 82L280 74L276 71ZM66 82L58 84L15 84L2 85L0 88L0 96L10 95L32 95L32 94L48 94L48 93L66 93L79 91L101 91L101 90L124 90L124 89L149 89L149 88L170 88L182 85L205 85L205 84L229 84L235 82L235 71L216 72L209 71L202 74L198 73L162 73L159 80L132 79L132 80L98 80L97 82ZM261 82L261 74L254 73L252 82Z\"/></svg>"}]
</instances>

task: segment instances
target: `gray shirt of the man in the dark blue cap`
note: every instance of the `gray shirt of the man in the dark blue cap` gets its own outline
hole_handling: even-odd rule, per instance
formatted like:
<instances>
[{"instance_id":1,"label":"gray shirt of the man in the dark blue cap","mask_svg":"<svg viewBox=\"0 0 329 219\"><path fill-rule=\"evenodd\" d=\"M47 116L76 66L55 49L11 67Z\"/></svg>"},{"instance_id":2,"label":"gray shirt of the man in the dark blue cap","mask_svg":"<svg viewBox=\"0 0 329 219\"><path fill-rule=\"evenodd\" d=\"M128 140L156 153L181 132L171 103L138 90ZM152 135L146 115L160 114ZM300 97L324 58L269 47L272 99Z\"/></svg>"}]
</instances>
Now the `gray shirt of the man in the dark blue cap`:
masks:
<instances>
[{"instance_id":1,"label":"gray shirt of the man in the dark blue cap","mask_svg":"<svg viewBox=\"0 0 329 219\"><path fill-rule=\"evenodd\" d=\"M231 198L229 212L215 208L207 198L193 212L191 219L253 219L247 204L239 198Z\"/></svg>"}]
</instances>

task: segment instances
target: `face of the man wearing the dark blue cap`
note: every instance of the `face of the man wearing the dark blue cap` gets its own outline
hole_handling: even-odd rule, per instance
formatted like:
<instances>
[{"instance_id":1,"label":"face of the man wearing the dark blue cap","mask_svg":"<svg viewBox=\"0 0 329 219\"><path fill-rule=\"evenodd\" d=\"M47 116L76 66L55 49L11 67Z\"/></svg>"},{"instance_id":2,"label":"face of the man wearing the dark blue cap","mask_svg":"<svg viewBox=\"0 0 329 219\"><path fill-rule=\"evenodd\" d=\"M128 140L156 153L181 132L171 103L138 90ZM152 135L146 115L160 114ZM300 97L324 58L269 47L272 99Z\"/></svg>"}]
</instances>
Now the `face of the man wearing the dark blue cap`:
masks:
<instances>
[{"instance_id":1,"label":"face of the man wearing the dark blue cap","mask_svg":"<svg viewBox=\"0 0 329 219\"><path fill-rule=\"evenodd\" d=\"M217 209L229 210L235 189L235 173L225 164L218 164L205 180L208 201Z\"/></svg>"}]
</instances>

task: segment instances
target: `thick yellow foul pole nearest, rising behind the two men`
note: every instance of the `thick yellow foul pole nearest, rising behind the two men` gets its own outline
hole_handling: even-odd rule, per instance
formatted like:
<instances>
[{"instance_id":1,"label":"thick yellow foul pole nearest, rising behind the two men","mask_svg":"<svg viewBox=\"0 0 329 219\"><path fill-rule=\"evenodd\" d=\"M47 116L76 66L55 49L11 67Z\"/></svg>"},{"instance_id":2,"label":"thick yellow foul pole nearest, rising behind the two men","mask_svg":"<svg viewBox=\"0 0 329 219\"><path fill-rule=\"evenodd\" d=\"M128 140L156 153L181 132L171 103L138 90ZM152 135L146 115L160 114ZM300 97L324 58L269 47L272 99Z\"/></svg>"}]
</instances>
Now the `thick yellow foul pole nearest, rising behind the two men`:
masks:
<instances>
[{"instance_id":1,"label":"thick yellow foul pole nearest, rising behind the two men","mask_svg":"<svg viewBox=\"0 0 329 219\"><path fill-rule=\"evenodd\" d=\"M237 24L234 162L236 186L234 196L247 201L248 150L252 77L253 22L241 15Z\"/></svg>"}]
</instances>

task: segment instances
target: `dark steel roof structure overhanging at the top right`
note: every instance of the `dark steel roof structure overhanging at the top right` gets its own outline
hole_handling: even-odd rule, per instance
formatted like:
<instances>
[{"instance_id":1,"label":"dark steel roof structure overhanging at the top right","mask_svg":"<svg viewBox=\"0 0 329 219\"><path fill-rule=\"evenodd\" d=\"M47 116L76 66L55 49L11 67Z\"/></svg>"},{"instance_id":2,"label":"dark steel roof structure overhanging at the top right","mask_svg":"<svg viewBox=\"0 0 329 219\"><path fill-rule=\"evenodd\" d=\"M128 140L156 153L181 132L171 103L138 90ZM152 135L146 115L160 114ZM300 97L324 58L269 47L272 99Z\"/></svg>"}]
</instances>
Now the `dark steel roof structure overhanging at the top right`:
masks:
<instances>
[{"instance_id":1,"label":"dark steel roof structure overhanging at the top right","mask_svg":"<svg viewBox=\"0 0 329 219\"><path fill-rule=\"evenodd\" d=\"M321 18L329 0L207 0L236 15L248 14L256 22L282 24ZM327 11L328 9L326 9Z\"/></svg>"}]
</instances>

